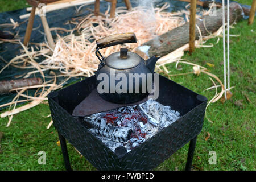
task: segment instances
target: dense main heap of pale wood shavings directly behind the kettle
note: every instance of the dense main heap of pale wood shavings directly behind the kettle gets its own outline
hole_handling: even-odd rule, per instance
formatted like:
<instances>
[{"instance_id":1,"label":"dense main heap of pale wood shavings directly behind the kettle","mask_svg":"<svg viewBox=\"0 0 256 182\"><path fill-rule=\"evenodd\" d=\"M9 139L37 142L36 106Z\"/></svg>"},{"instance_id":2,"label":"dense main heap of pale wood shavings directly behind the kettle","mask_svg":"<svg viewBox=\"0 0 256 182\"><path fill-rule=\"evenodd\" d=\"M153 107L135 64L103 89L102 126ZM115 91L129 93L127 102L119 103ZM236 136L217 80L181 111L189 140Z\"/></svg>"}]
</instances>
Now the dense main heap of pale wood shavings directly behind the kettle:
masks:
<instances>
[{"instance_id":1,"label":"dense main heap of pale wood shavings directly behind the kettle","mask_svg":"<svg viewBox=\"0 0 256 182\"><path fill-rule=\"evenodd\" d=\"M118 52L123 46L129 51L135 51L139 45L147 42L155 36L164 34L185 23L180 16L184 12L165 12L170 5L147 9L146 7L135 7L131 11L125 7L118 7L114 19L106 16L87 15L76 26L80 36L70 34L61 38L58 36L56 47L51 57L42 62L43 65L59 69L66 76L90 77L97 71L100 61L95 55L96 40L105 36L123 32L135 32L137 43L117 45L101 50L102 55Z\"/></svg>"}]
</instances>

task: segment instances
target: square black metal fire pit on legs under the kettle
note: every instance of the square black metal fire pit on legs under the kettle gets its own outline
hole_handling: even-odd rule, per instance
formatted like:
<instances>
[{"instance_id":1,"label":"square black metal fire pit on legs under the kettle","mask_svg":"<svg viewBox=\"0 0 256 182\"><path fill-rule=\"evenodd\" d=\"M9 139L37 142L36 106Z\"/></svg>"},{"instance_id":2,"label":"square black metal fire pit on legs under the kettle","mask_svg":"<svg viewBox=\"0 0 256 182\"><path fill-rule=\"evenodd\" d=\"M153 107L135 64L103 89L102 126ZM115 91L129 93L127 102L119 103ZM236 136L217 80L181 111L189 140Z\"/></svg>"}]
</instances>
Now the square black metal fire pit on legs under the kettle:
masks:
<instances>
[{"instance_id":1,"label":"square black metal fire pit on legs under the kettle","mask_svg":"<svg viewBox=\"0 0 256 182\"><path fill-rule=\"evenodd\" d=\"M99 170L151 170L190 141L185 169L191 169L196 137L204 121L205 96L159 75L159 98L156 101L179 111L181 117L126 154L122 150L110 150L86 129L79 117L72 117L75 107L96 88L95 80L92 76L48 95L67 170L71 166L65 139Z\"/></svg>"}]
</instances>

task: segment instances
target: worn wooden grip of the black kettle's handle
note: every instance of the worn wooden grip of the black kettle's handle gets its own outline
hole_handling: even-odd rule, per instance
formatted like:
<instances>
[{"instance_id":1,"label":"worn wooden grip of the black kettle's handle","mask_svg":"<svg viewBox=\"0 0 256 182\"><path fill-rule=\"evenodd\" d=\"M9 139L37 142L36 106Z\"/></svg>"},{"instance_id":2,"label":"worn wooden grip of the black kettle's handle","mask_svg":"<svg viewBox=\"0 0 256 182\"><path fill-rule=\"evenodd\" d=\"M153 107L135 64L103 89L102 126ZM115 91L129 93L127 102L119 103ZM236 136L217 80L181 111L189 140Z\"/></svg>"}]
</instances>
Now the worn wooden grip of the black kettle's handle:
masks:
<instances>
[{"instance_id":1,"label":"worn wooden grip of the black kettle's handle","mask_svg":"<svg viewBox=\"0 0 256 182\"><path fill-rule=\"evenodd\" d=\"M105 38L96 40L98 48L106 48L109 46L115 46L117 44L125 43L136 43L137 38L134 33L123 33L123 34L113 34L106 36Z\"/></svg>"}]
</instances>

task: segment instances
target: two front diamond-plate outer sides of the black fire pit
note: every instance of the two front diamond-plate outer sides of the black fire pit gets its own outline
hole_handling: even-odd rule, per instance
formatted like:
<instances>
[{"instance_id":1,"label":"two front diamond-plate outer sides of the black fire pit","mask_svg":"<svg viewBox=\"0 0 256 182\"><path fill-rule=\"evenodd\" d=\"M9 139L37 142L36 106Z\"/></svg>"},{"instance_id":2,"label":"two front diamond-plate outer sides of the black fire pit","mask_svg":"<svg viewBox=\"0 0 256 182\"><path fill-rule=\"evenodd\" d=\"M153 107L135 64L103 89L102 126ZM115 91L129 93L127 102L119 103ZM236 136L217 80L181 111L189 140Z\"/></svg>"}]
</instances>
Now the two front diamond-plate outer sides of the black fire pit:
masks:
<instances>
[{"instance_id":1,"label":"two front diamond-plate outer sides of the black fire pit","mask_svg":"<svg viewBox=\"0 0 256 182\"><path fill-rule=\"evenodd\" d=\"M181 89L183 89L182 86ZM79 119L72 117L71 111L61 107L61 100L57 103L50 94L48 101L53 125L57 131L99 170L154 169L200 133L207 104L207 100L196 104L192 110L183 114L170 126L119 158L94 137Z\"/></svg>"}]
</instances>

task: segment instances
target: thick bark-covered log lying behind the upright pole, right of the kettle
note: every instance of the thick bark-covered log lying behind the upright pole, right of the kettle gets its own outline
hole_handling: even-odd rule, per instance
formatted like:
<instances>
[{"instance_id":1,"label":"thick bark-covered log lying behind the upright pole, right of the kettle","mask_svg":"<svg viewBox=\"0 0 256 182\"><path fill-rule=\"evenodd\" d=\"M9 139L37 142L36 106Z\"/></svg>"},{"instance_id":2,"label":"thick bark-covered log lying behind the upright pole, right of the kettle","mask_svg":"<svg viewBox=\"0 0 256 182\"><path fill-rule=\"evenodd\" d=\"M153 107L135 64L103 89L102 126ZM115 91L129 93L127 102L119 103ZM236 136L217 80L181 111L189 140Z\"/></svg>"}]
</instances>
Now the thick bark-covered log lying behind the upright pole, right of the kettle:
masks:
<instances>
[{"instance_id":1,"label":"thick bark-covered log lying behind the upright pole, right of the kettle","mask_svg":"<svg viewBox=\"0 0 256 182\"><path fill-rule=\"evenodd\" d=\"M226 10L225 10L226 12ZM230 3L230 24L243 18L243 10L238 3ZM196 40L199 40L200 33L202 36L208 36L216 32L222 26L222 9L218 9L216 16L202 16L196 19ZM227 13L225 13L226 15ZM164 56L175 51L177 48L184 46L189 42L189 22L183 26L177 27L165 34L159 35L154 39L137 47L136 52L144 59L151 56Z\"/></svg>"}]
</instances>

